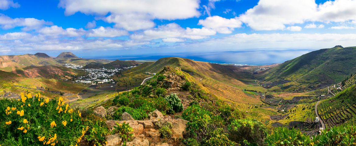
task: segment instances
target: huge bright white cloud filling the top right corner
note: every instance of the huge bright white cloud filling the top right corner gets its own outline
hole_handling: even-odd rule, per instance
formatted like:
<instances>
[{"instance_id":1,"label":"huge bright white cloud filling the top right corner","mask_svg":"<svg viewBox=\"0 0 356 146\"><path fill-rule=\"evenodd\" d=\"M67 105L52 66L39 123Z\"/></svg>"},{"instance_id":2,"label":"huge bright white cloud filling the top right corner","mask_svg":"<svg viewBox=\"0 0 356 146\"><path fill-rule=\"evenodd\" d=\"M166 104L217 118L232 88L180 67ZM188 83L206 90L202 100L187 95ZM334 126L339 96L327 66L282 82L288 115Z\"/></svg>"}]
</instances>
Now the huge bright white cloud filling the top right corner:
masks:
<instances>
[{"instance_id":1,"label":"huge bright white cloud filling the top right corner","mask_svg":"<svg viewBox=\"0 0 356 146\"><path fill-rule=\"evenodd\" d=\"M239 20L254 30L283 30L286 25L306 21L328 23L356 20L355 7L355 0L326 1L319 5L315 0L260 0L255 7L240 15Z\"/></svg>"}]
</instances>

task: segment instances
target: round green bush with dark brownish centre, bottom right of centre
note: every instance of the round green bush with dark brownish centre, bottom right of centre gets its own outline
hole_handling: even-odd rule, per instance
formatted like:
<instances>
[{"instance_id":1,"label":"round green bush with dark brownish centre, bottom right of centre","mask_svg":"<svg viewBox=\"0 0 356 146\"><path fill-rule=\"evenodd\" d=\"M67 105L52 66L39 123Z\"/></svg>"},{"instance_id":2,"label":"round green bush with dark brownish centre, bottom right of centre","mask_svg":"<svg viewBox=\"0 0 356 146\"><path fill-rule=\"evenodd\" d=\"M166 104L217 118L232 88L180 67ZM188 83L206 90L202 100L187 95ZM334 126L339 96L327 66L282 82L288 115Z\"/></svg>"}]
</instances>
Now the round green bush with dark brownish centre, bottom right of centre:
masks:
<instances>
[{"instance_id":1,"label":"round green bush with dark brownish centre, bottom right of centre","mask_svg":"<svg viewBox=\"0 0 356 146\"><path fill-rule=\"evenodd\" d=\"M233 120L227 129L230 132L230 140L237 143L246 141L250 145L263 145L267 134L267 128L255 119Z\"/></svg>"}]
</instances>

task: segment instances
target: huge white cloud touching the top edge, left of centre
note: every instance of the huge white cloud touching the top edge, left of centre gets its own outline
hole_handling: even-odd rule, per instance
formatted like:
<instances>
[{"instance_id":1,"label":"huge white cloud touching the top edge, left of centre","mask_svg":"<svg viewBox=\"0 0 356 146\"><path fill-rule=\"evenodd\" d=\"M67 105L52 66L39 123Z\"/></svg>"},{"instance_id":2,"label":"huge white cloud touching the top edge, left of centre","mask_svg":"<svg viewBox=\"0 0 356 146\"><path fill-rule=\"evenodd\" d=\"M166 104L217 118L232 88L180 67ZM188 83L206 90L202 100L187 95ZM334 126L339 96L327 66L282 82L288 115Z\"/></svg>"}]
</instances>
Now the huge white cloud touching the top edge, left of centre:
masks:
<instances>
[{"instance_id":1,"label":"huge white cloud touching the top edge, left of centre","mask_svg":"<svg viewBox=\"0 0 356 146\"><path fill-rule=\"evenodd\" d=\"M104 16L107 22L126 30L153 27L153 19L176 20L199 16L199 0L61 0L66 15L75 12Z\"/></svg>"}]
</instances>

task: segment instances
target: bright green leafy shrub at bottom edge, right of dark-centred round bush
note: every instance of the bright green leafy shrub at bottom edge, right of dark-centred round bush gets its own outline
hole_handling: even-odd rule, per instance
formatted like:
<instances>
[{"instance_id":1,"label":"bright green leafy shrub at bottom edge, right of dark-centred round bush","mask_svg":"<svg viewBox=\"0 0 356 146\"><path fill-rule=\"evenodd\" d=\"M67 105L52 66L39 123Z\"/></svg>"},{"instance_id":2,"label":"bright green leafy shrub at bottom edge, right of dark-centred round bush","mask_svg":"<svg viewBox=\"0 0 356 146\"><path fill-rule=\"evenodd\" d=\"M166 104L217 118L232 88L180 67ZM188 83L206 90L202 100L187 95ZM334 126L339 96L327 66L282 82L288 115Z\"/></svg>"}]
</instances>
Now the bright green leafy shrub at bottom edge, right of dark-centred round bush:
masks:
<instances>
[{"instance_id":1,"label":"bright green leafy shrub at bottom edge, right of dark-centred round bush","mask_svg":"<svg viewBox=\"0 0 356 146\"><path fill-rule=\"evenodd\" d=\"M277 127L271 135L266 137L265 144L268 146L310 146L314 143L309 136L305 136L299 130Z\"/></svg>"}]
</instances>

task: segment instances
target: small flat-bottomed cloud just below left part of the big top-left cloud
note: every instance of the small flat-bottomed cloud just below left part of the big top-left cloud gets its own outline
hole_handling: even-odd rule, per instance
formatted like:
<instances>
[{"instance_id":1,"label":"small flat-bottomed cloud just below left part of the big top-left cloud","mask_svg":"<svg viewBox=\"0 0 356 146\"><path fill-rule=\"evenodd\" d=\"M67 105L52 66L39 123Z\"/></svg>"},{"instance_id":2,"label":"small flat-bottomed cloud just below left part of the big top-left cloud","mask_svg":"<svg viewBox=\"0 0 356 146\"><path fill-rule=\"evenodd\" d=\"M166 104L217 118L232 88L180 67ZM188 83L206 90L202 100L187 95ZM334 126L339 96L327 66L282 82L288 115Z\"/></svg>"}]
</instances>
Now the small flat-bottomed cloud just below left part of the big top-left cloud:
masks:
<instances>
[{"instance_id":1,"label":"small flat-bottomed cloud just below left part of the big top-left cloud","mask_svg":"<svg viewBox=\"0 0 356 146\"><path fill-rule=\"evenodd\" d=\"M129 33L125 30L100 26L99 28L90 30L87 37L119 37L124 35L129 35Z\"/></svg>"}]
</instances>

